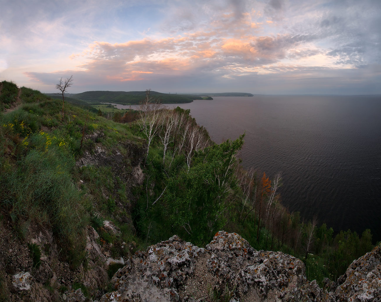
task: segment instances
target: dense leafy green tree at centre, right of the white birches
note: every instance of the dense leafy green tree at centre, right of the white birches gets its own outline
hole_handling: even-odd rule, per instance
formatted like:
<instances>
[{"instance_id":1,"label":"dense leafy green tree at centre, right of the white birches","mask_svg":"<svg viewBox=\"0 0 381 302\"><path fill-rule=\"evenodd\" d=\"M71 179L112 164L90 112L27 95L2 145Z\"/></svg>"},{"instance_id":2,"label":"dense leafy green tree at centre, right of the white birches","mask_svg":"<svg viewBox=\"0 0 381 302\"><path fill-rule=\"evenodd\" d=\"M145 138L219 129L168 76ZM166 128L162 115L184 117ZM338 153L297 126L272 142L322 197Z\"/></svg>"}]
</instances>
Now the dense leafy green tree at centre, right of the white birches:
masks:
<instances>
[{"instance_id":1,"label":"dense leafy green tree at centre, right of the white birches","mask_svg":"<svg viewBox=\"0 0 381 302\"><path fill-rule=\"evenodd\" d=\"M166 181L165 206L182 238L204 244L226 225L226 214L239 191L234 172L242 145L243 136L196 152L189 170Z\"/></svg>"}]
</instances>

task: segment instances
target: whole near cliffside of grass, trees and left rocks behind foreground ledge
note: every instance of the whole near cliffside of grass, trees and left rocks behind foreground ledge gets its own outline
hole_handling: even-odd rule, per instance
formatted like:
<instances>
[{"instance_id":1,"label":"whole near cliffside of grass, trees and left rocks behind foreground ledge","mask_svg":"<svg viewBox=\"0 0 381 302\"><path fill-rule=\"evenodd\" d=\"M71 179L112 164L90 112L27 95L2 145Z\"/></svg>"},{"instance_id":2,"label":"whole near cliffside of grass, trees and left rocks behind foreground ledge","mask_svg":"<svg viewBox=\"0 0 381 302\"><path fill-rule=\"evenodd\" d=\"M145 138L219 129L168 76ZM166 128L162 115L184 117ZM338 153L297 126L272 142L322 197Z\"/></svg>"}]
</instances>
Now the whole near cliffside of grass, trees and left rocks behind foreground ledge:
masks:
<instances>
[{"instance_id":1,"label":"whole near cliffside of grass, trees and left rocks behind foreground ledge","mask_svg":"<svg viewBox=\"0 0 381 302\"><path fill-rule=\"evenodd\" d=\"M175 234L205 246L222 229L239 233L299 258L320 287L373 248L370 230L334 233L288 212L280 174L240 166L244 133L215 144L189 110L149 90L122 115L1 84L0 300L78 288L99 300L136 251Z\"/></svg>"}]
</instances>

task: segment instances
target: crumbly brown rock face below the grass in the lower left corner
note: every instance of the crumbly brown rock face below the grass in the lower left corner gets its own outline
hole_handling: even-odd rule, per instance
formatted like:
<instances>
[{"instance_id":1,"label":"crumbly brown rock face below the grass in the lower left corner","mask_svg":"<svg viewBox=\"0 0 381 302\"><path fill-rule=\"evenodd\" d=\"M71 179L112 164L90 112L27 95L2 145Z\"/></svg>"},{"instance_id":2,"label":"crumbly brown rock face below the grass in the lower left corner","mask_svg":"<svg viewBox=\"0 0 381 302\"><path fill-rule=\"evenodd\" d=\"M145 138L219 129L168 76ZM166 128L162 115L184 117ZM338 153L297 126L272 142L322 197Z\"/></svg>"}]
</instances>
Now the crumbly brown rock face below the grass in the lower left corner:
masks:
<instances>
[{"instance_id":1,"label":"crumbly brown rock face below the grass in the lower left corner","mask_svg":"<svg viewBox=\"0 0 381 302\"><path fill-rule=\"evenodd\" d=\"M112 222L108 222L108 227L118 231ZM72 289L75 283L83 284L96 297L97 291L107 284L108 266L124 260L107 256L110 251L106 244L99 244L99 235L93 227L86 231L86 267L80 264L73 269L60 253L61 247L51 229L30 224L21 240L10 222L0 221L0 301L66 300L63 298L66 291L70 301L77 301L83 293ZM33 250L39 252L38 257L33 257ZM103 293L99 292L98 299Z\"/></svg>"}]
</instances>

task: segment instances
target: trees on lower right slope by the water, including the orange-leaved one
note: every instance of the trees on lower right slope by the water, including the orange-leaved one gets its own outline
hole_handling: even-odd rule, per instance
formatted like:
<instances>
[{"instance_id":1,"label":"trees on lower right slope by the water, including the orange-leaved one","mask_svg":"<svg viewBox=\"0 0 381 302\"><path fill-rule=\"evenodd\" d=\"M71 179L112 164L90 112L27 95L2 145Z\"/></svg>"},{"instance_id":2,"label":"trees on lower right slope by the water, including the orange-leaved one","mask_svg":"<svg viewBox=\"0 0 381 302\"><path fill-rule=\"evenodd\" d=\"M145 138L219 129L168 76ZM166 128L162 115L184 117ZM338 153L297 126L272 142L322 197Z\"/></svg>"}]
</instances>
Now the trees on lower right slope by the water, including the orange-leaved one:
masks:
<instances>
[{"instance_id":1,"label":"trees on lower right slope by the water, including the orange-leaved one","mask_svg":"<svg viewBox=\"0 0 381 302\"><path fill-rule=\"evenodd\" d=\"M318 226L316 217L305 221L299 212L290 213L282 205L278 192L282 181L280 173L273 180L253 170L242 171L239 175L242 181L238 221L241 225L254 226L256 236L252 236L251 244L257 249L277 249L293 254L301 258L307 268L314 265L322 278L336 280L354 259L373 248L368 229L361 237L351 230L340 231L334 236L333 229L327 228L325 223Z\"/></svg>"}]
</instances>

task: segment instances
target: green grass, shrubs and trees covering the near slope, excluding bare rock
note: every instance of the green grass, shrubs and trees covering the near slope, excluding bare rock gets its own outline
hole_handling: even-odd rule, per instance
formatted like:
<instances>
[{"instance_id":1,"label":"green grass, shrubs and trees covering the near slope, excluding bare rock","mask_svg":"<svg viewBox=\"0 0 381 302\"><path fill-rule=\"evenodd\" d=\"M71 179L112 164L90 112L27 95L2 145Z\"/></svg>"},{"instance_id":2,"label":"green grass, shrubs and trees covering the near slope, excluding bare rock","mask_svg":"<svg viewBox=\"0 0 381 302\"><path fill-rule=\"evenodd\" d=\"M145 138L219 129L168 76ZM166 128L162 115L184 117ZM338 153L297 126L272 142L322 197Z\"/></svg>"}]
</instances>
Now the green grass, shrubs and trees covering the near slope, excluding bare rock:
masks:
<instances>
[{"instance_id":1,"label":"green grass, shrubs and trees covering the near slope, excluding bare rock","mask_svg":"<svg viewBox=\"0 0 381 302\"><path fill-rule=\"evenodd\" d=\"M3 91L14 92L15 86L3 82L3 89L11 87ZM361 237L349 230L335 236L325 224L318 227L298 212L289 213L277 193L280 177L270 180L240 167L237 153L244 135L214 144L189 110L157 108L158 131L147 148L140 130L149 120L144 124L141 112L106 119L97 110L65 102L62 120L61 100L22 87L21 101L18 109L0 113L1 215L21 239L32 222L50 227L73 268L86 261L87 225L98 232L101 244L112 243L112 257L174 234L204 246L216 231L236 232L255 249L300 257L308 278L320 285L324 277L338 278L373 247L369 230ZM76 165L96 148L107 160ZM132 157L139 152L142 164L133 167ZM122 156L114 161L115 154ZM141 183L131 185L133 168L144 174ZM105 219L121 233L107 232ZM39 251L30 246L30 252L37 266ZM0 272L0 297L5 295L2 278Z\"/></svg>"}]
</instances>

